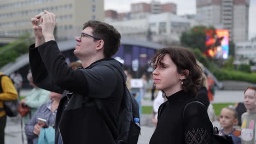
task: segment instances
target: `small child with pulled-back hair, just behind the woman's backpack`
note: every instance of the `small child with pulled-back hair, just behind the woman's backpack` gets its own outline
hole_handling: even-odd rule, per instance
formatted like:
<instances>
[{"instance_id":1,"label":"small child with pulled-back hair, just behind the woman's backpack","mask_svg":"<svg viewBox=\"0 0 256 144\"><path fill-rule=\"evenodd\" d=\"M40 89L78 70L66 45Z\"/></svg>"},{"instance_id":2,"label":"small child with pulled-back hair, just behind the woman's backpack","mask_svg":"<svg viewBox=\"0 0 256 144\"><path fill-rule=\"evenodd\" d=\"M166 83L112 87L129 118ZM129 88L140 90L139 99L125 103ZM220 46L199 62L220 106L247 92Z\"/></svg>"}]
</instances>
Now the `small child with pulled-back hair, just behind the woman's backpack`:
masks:
<instances>
[{"instance_id":1,"label":"small child with pulled-back hair, just behind the woman's backpack","mask_svg":"<svg viewBox=\"0 0 256 144\"><path fill-rule=\"evenodd\" d=\"M230 135L234 144L241 144L241 131L234 128L238 123L236 111L230 107L224 107L220 112L219 122L223 128L220 129L219 135Z\"/></svg>"}]
</instances>

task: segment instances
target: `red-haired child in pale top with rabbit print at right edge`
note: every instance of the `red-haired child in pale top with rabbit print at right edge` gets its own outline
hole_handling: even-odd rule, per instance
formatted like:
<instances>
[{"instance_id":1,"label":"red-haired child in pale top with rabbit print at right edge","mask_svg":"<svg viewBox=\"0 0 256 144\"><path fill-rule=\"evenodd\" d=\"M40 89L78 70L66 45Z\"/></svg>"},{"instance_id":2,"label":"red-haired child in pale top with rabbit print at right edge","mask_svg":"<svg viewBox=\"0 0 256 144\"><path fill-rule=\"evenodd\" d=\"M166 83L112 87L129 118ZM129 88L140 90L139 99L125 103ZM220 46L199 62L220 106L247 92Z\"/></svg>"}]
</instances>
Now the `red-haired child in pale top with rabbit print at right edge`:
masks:
<instances>
[{"instance_id":1,"label":"red-haired child in pale top with rabbit print at right edge","mask_svg":"<svg viewBox=\"0 0 256 144\"><path fill-rule=\"evenodd\" d=\"M242 115L242 144L255 144L256 87L247 87L244 94L247 112Z\"/></svg>"}]
</instances>

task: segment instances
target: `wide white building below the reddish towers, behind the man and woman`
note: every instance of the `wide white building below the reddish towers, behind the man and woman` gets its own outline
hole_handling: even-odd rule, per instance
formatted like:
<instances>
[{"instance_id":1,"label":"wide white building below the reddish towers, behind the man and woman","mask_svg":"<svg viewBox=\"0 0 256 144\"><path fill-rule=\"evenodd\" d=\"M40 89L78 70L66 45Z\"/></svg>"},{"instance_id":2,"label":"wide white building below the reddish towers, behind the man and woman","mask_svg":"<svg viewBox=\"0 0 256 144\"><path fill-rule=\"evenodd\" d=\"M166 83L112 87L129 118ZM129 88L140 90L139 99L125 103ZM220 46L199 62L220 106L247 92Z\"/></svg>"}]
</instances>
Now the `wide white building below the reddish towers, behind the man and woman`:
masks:
<instances>
[{"instance_id":1,"label":"wide white building below the reddish towers, behind the man and woman","mask_svg":"<svg viewBox=\"0 0 256 144\"><path fill-rule=\"evenodd\" d=\"M149 14L142 19L108 21L116 27L122 36L164 43L178 43L181 34L198 25L193 19L187 19L172 13Z\"/></svg>"}]
</instances>

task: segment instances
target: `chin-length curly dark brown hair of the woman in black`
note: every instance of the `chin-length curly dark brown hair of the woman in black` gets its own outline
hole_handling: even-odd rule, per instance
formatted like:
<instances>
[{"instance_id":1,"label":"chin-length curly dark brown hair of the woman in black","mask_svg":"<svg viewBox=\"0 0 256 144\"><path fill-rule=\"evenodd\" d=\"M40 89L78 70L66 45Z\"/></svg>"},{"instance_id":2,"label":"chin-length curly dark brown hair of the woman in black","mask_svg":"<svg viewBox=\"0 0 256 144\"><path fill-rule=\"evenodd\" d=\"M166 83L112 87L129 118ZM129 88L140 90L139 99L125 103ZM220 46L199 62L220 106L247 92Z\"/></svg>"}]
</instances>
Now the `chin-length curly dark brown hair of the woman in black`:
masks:
<instances>
[{"instance_id":1,"label":"chin-length curly dark brown hair of the woman in black","mask_svg":"<svg viewBox=\"0 0 256 144\"><path fill-rule=\"evenodd\" d=\"M155 65L155 63L162 65L161 61L165 55L171 57L173 63L177 67L178 73L185 75L186 79L182 80L183 90L191 92L195 98L202 81L202 69L196 63L195 55L191 51L181 47L167 47L160 49L155 53L150 65ZM185 73L184 70L189 70L189 74Z\"/></svg>"}]
</instances>

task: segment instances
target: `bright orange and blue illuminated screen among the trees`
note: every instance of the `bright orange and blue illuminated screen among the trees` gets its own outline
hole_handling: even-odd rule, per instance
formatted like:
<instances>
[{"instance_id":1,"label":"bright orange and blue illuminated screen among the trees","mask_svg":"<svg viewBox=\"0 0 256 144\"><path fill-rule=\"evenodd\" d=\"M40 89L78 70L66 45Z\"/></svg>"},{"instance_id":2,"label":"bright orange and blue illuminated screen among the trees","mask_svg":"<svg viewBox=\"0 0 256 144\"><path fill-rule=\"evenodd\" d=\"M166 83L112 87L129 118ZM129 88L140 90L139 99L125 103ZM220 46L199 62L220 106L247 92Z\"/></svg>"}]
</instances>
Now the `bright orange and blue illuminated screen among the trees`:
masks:
<instances>
[{"instance_id":1,"label":"bright orange and blue illuminated screen among the trees","mask_svg":"<svg viewBox=\"0 0 256 144\"><path fill-rule=\"evenodd\" d=\"M206 31L205 41L207 51L205 55L212 58L227 59L229 55L229 31L228 29L216 29Z\"/></svg>"}]
</instances>

